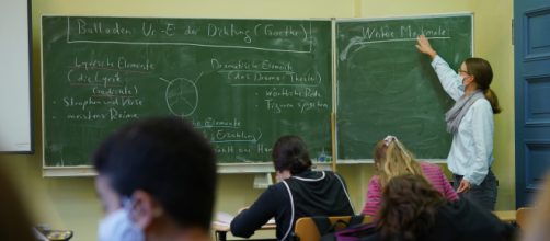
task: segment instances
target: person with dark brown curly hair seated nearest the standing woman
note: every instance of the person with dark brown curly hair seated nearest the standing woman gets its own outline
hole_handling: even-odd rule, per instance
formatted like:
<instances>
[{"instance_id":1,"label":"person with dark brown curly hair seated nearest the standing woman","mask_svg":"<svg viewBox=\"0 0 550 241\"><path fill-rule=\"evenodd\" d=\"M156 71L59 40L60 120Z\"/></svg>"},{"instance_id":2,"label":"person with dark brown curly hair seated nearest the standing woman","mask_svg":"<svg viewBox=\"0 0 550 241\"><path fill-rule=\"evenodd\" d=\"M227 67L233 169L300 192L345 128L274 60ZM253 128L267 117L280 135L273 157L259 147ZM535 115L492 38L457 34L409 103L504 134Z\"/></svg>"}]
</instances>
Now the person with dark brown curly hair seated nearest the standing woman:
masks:
<instances>
[{"instance_id":1,"label":"person with dark brown curly hair seated nearest the standing woman","mask_svg":"<svg viewBox=\"0 0 550 241\"><path fill-rule=\"evenodd\" d=\"M504 241L514 229L489 210L459 199L449 203L421 175L392 177L383 188L375 240Z\"/></svg>"}]
</instances>

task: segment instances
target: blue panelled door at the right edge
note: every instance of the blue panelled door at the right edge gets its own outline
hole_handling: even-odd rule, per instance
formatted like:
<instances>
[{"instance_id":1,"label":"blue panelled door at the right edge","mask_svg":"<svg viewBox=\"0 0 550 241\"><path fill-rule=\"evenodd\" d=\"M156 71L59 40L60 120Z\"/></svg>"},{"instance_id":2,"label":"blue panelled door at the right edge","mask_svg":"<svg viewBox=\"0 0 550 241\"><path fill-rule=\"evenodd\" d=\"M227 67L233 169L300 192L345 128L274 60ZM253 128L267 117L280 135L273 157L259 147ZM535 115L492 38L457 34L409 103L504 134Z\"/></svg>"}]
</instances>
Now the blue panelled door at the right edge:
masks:
<instances>
[{"instance_id":1,"label":"blue panelled door at the right edge","mask_svg":"<svg viewBox=\"0 0 550 241\"><path fill-rule=\"evenodd\" d=\"M550 1L514 1L516 206L550 171Z\"/></svg>"}]
</instances>

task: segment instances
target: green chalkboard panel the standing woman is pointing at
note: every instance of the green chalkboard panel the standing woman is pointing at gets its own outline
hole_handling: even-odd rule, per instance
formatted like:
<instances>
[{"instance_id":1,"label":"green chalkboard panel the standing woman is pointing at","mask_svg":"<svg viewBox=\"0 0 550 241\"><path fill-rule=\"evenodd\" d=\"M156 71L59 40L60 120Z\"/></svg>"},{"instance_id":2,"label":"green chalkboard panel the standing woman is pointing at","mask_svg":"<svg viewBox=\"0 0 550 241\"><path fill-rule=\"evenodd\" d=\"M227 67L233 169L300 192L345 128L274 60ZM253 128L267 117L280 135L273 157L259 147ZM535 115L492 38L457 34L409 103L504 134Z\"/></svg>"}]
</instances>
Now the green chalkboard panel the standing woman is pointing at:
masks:
<instances>
[{"instance_id":1,"label":"green chalkboard panel the standing woman is pointing at","mask_svg":"<svg viewBox=\"0 0 550 241\"><path fill-rule=\"evenodd\" d=\"M336 22L339 159L370 159L389 134L419 158L447 158L452 100L415 48L420 34L455 69L472 55L471 14Z\"/></svg>"}]
</instances>

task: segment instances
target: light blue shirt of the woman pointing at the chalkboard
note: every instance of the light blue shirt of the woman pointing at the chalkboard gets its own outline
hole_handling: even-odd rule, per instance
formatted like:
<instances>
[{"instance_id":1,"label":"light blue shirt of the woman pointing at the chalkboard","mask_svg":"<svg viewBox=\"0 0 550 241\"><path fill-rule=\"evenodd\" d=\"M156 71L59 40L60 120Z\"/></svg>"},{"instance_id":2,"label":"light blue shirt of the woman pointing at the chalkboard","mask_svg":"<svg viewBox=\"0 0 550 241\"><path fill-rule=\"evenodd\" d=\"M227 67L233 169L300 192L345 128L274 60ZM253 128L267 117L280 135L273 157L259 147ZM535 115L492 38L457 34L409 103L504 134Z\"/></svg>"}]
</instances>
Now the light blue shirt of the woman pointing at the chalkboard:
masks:
<instances>
[{"instance_id":1,"label":"light blue shirt of the woman pointing at the chalkboard","mask_svg":"<svg viewBox=\"0 0 550 241\"><path fill-rule=\"evenodd\" d=\"M432 61L443 89L457 101L465 92L460 89L462 78L439 56ZM458 126L452 137L447 165L463 175L471 184L480 185L493 163L493 108L486 99L475 101Z\"/></svg>"}]
</instances>

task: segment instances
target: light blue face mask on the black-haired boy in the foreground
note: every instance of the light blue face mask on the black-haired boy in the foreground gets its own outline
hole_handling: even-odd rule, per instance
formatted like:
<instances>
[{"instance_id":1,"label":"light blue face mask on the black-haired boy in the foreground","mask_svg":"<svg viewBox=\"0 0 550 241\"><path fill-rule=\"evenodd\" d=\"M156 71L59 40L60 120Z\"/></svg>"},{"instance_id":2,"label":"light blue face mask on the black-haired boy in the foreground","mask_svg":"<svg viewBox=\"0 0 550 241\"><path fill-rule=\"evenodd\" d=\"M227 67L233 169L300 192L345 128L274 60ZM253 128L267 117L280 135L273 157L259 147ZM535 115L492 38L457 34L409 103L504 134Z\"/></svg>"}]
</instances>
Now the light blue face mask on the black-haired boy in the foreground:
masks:
<instances>
[{"instance_id":1,"label":"light blue face mask on the black-haired boy in the foreground","mask_svg":"<svg viewBox=\"0 0 550 241\"><path fill-rule=\"evenodd\" d=\"M127 209L121 208L101 220L99 241L145 241L144 232L131 221Z\"/></svg>"}]
</instances>

